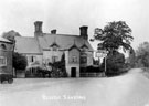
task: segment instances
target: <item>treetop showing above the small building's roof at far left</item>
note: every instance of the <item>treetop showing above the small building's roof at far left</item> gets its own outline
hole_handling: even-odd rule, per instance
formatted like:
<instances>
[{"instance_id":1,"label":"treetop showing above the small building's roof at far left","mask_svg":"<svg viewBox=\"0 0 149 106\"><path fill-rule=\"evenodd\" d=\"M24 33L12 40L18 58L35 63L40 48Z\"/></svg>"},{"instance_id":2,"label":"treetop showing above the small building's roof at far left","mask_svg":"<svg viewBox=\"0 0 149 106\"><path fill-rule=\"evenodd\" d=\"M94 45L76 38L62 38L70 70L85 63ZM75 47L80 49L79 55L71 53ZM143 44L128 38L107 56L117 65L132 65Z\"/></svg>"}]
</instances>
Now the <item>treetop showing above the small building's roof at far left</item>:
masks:
<instances>
[{"instance_id":1,"label":"treetop showing above the small building's roof at far left","mask_svg":"<svg viewBox=\"0 0 149 106\"><path fill-rule=\"evenodd\" d=\"M10 40L10 41L12 41L12 42L14 42L14 36L21 36L21 35L18 32L11 30L9 32L4 32L2 34L2 36Z\"/></svg>"}]
</instances>

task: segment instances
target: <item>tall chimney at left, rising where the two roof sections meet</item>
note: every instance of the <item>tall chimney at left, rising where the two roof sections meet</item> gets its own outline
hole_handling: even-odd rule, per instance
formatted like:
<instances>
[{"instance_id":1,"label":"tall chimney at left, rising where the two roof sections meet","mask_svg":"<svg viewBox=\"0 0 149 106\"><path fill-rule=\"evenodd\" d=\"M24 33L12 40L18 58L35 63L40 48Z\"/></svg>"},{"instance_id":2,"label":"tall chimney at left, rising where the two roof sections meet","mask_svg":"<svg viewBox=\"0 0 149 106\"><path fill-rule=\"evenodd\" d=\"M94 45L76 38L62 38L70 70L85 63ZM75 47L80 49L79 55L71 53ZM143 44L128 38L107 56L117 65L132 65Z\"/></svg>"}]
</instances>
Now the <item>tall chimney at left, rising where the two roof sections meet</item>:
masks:
<instances>
[{"instance_id":1,"label":"tall chimney at left, rising where the two roof sections meet","mask_svg":"<svg viewBox=\"0 0 149 106\"><path fill-rule=\"evenodd\" d=\"M42 35L42 21L34 22L34 35Z\"/></svg>"}]
</instances>

